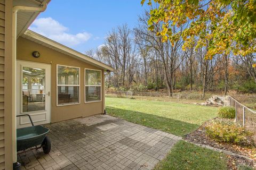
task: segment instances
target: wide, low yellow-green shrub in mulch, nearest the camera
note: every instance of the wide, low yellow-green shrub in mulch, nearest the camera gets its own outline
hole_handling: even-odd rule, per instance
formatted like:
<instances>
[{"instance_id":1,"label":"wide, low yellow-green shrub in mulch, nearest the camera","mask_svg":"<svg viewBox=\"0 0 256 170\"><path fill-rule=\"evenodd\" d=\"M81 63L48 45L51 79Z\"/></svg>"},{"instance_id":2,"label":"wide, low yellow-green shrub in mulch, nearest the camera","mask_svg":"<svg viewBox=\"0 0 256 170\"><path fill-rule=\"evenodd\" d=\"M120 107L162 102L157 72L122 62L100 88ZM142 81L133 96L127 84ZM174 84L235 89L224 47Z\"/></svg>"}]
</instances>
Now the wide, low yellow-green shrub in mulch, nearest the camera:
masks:
<instances>
[{"instance_id":1,"label":"wide, low yellow-green shrub in mulch, nearest the camera","mask_svg":"<svg viewBox=\"0 0 256 170\"><path fill-rule=\"evenodd\" d=\"M230 120L215 120L205 127L206 135L218 142L251 145L253 133Z\"/></svg>"}]
</instances>

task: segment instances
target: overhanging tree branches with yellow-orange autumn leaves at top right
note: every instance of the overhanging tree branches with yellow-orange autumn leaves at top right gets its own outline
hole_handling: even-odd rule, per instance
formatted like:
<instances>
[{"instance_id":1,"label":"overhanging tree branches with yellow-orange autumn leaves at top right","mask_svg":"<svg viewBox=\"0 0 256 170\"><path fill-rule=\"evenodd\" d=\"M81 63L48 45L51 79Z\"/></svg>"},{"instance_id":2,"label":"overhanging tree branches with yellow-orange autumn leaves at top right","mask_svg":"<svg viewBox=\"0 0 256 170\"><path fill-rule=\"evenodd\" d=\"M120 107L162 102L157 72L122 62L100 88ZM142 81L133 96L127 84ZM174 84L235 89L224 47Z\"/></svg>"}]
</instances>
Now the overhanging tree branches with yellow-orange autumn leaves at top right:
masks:
<instances>
[{"instance_id":1,"label":"overhanging tree branches with yellow-orange autumn leaves at top right","mask_svg":"<svg viewBox=\"0 0 256 170\"><path fill-rule=\"evenodd\" d=\"M148 29L163 22L163 29L157 32L163 41L177 41L180 32L173 33L173 25L188 25L179 37L184 41L183 50L207 47L205 59L256 52L256 0L148 0L147 4L152 8Z\"/></svg>"}]
</instances>

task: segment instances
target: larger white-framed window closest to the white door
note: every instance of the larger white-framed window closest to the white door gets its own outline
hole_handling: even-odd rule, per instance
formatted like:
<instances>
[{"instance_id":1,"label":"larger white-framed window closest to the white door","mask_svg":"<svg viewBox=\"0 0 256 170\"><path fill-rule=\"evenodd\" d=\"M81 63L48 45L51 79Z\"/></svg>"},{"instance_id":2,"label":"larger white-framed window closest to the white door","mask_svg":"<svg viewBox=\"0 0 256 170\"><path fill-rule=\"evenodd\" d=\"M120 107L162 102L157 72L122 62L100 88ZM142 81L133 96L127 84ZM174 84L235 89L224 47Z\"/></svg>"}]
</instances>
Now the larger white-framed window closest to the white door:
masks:
<instances>
[{"instance_id":1,"label":"larger white-framed window closest to the white door","mask_svg":"<svg viewBox=\"0 0 256 170\"><path fill-rule=\"evenodd\" d=\"M57 105L79 103L80 68L57 65Z\"/></svg>"}]
</instances>

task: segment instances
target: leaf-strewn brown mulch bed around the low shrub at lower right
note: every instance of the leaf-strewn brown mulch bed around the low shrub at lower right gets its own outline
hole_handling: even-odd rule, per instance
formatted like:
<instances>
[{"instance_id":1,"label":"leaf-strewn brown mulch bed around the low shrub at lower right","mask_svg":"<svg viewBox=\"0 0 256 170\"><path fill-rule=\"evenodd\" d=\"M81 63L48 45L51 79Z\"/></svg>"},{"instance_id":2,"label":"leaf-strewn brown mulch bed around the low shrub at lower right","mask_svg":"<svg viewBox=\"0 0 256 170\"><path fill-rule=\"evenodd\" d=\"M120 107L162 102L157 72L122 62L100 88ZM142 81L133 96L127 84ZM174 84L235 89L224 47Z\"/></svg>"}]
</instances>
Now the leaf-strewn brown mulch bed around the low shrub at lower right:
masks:
<instances>
[{"instance_id":1,"label":"leaf-strewn brown mulch bed around the low shrub at lower right","mask_svg":"<svg viewBox=\"0 0 256 170\"><path fill-rule=\"evenodd\" d=\"M219 119L219 118L215 118ZM228 158L228 168L229 169L238 169L239 165L249 165L256 169L256 148L255 146L237 146L232 143L220 143L214 141L207 137L205 134L205 126L209 125L211 122L207 121L202 126L200 126L196 131L187 134L183 139L189 142L211 146L214 148L228 150L235 154L243 155L245 157L249 157L253 160L245 159L243 157L235 157L235 156L227 156Z\"/></svg>"}]
</instances>

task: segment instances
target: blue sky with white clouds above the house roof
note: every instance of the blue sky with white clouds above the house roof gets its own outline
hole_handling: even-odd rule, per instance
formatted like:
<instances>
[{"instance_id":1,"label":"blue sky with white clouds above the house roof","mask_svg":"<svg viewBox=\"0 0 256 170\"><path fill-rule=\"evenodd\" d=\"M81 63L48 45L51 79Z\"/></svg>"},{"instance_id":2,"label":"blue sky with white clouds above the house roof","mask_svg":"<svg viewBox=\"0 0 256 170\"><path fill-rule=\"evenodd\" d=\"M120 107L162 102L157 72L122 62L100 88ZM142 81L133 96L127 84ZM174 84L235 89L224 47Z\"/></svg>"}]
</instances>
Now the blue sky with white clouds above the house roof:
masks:
<instances>
[{"instance_id":1,"label":"blue sky with white clouds above the house roof","mask_svg":"<svg viewBox=\"0 0 256 170\"><path fill-rule=\"evenodd\" d=\"M30 29L84 53L102 45L118 25L132 29L146 7L140 0L52 0Z\"/></svg>"}]
</instances>

